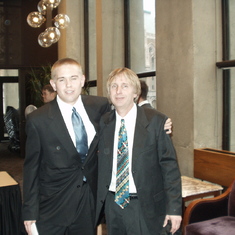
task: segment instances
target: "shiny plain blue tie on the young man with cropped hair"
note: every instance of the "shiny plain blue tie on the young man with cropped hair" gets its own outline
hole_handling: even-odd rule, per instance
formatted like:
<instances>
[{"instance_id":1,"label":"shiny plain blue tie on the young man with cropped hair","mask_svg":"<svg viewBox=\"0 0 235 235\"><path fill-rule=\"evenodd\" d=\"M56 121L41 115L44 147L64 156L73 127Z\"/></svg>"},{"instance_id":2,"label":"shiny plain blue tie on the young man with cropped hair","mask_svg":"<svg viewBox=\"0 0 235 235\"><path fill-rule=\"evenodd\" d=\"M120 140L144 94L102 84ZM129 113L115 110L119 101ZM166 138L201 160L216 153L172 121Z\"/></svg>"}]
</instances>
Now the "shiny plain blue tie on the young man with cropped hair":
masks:
<instances>
[{"instance_id":1,"label":"shiny plain blue tie on the young man with cropped hair","mask_svg":"<svg viewBox=\"0 0 235 235\"><path fill-rule=\"evenodd\" d=\"M88 153L87 133L82 118L74 107L72 113L72 124L76 138L76 149L81 156L82 162L84 162Z\"/></svg>"}]
</instances>

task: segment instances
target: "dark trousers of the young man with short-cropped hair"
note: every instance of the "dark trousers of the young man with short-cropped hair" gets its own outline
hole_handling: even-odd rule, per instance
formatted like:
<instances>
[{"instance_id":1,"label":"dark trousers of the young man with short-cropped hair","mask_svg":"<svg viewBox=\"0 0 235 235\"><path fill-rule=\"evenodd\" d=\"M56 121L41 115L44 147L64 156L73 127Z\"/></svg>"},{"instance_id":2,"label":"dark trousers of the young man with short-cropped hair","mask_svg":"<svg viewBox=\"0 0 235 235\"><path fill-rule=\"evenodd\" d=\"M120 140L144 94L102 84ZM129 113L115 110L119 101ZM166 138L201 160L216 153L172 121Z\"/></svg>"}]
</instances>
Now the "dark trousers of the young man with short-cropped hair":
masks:
<instances>
[{"instance_id":1,"label":"dark trousers of the young man with short-cropped hair","mask_svg":"<svg viewBox=\"0 0 235 235\"><path fill-rule=\"evenodd\" d=\"M61 215L59 215L61 216ZM50 221L37 221L39 235L95 235L95 205L88 184L82 188L81 201L74 221L68 226L60 226Z\"/></svg>"}]
</instances>

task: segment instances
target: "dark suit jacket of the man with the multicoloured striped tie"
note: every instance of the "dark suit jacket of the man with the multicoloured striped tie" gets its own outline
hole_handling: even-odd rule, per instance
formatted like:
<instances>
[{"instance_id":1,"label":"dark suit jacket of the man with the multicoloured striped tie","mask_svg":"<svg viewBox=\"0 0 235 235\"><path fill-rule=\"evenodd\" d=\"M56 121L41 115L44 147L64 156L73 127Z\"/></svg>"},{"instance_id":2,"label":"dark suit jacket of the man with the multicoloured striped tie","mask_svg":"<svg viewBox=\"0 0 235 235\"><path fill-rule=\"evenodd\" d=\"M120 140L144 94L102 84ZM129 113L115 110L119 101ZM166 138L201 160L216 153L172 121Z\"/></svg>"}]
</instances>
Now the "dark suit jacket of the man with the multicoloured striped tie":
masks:
<instances>
[{"instance_id":1,"label":"dark suit jacket of the man with the multicoloured striped tie","mask_svg":"<svg viewBox=\"0 0 235 235\"><path fill-rule=\"evenodd\" d=\"M152 234L161 231L166 214L181 215L181 176L171 138L164 131L166 119L155 109L137 107L132 174L142 213ZM96 221L111 182L115 121L113 110L105 114L100 123Z\"/></svg>"}]
</instances>

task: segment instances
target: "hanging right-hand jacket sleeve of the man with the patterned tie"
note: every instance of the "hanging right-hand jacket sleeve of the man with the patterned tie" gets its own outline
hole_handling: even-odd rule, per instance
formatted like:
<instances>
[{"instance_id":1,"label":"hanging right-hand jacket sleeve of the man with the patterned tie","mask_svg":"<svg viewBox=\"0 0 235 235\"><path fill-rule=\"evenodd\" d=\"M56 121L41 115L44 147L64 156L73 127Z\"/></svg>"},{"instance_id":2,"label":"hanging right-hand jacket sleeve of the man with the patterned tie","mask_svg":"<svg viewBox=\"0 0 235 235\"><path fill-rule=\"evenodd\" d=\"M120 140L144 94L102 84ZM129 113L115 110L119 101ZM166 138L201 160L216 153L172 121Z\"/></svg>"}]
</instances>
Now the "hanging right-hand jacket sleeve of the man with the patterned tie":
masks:
<instances>
[{"instance_id":1,"label":"hanging right-hand jacket sleeve of the man with the patterned tie","mask_svg":"<svg viewBox=\"0 0 235 235\"><path fill-rule=\"evenodd\" d=\"M178 167L175 148L171 137L164 130L164 122L159 133L159 161L166 193L166 213L182 214L181 175Z\"/></svg>"}]
</instances>

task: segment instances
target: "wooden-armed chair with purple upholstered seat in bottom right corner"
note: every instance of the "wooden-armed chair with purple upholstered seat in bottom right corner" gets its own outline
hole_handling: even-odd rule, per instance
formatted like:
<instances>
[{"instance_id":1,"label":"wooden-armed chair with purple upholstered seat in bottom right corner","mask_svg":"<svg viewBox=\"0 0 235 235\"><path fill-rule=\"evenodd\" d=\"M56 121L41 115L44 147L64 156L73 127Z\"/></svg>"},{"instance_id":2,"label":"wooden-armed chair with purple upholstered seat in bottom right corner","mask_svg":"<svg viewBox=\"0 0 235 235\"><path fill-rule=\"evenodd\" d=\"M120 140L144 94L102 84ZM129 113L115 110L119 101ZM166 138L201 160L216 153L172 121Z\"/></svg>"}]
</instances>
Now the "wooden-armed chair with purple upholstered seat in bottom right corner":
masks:
<instances>
[{"instance_id":1,"label":"wooden-armed chair with purple upholstered seat in bottom right corner","mask_svg":"<svg viewBox=\"0 0 235 235\"><path fill-rule=\"evenodd\" d=\"M235 180L223 194L189 204L184 213L183 233L235 234Z\"/></svg>"}]
</instances>

